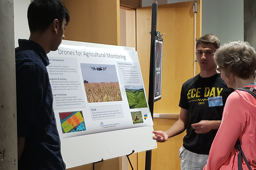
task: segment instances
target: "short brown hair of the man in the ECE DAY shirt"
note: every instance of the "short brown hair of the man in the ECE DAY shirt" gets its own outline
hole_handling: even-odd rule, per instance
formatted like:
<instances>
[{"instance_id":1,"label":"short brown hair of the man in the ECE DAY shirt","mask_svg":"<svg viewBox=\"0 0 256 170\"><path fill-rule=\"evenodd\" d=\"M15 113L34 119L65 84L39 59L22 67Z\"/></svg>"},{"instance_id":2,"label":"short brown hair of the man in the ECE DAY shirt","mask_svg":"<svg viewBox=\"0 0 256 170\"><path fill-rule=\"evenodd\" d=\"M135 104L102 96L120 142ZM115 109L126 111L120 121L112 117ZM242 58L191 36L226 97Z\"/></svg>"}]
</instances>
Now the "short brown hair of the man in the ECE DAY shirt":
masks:
<instances>
[{"instance_id":1,"label":"short brown hair of the man in the ECE DAY shirt","mask_svg":"<svg viewBox=\"0 0 256 170\"><path fill-rule=\"evenodd\" d=\"M213 34L206 34L198 39L196 39L196 45L195 47L197 48L199 44L204 43L204 44L210 44L212 43L216 49L218 49L221 46L221 42L218 39L218 37L216 37Z\"/></svg>"}]
</instances>

